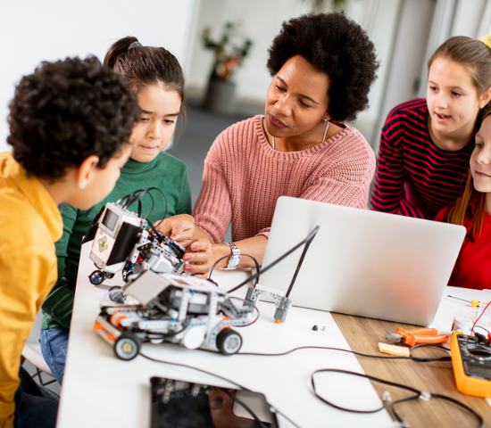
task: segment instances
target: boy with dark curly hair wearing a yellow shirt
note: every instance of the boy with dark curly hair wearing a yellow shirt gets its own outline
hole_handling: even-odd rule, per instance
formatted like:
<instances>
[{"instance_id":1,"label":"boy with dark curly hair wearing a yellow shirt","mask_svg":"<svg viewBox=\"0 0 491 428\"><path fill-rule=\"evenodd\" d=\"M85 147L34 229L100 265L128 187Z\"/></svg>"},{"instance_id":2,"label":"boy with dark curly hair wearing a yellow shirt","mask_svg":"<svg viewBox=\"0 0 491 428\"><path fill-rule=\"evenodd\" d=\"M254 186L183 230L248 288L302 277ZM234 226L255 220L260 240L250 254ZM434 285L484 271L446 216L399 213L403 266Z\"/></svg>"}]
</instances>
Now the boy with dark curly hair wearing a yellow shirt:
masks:
<instances>
[{"instance_id":1,"label":"boy with dark curly hair wearing a yellow shirt","mask_svg":"<svg viewBox=\"0 0 491 428\"><path fill-rule=\"evenodd\" d=\"M15 89L12 152L0 153L0 427L54 427L57 396L20 362L57 277L58 206L87 210L111 192L139 114L123 79L95 57L43 62Z\"/></svg>"}]
</instances>

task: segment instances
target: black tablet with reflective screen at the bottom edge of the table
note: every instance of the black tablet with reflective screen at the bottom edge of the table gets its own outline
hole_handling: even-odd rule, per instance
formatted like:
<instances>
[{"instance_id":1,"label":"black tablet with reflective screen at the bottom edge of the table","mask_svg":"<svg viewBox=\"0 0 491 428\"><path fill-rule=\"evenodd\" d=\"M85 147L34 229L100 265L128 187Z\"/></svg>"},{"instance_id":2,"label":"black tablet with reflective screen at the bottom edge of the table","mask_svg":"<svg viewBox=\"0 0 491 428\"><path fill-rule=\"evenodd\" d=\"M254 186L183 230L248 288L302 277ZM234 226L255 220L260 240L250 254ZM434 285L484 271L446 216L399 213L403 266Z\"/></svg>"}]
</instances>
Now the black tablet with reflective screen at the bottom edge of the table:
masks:
<instances>
[{"instance_id":1,"label":"black tablet with reflective screen at the bottom edge of the table","mask_svg":"<svg viewBox=\"0 0 491 428\"><path fill-rule=\"evenodd\" d=\"M264 396L152 377L152 428L280 428ZM245 410L242 402L249 411ZM274 409L273 409L274 410ZM254 416L257 420L254 420Z\"/></svg>"}]
</instances>

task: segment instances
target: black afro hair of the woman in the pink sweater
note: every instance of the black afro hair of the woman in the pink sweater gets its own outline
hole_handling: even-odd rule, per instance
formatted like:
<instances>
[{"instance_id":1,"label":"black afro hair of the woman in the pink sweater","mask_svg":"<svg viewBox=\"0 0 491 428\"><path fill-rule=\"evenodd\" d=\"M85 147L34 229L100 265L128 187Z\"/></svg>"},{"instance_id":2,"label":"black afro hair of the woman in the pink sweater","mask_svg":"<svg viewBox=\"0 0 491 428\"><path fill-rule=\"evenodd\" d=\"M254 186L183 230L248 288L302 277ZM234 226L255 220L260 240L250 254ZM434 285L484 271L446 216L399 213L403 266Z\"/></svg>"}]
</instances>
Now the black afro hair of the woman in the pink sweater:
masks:
<instances>
[{"instance_id":1,"label":"black afro hair of the woman in the pink sweater","mask_svg":"<svg viewBox=\"0 0 491 428\"><path fill-rule=\"evenodd\" d=\"M295 55L329 76L331 119L352 121L368 107L379 62L366 32L343 13L310 13L283 22L268 53L271 76Z\"/></svg>"}]
</instances>

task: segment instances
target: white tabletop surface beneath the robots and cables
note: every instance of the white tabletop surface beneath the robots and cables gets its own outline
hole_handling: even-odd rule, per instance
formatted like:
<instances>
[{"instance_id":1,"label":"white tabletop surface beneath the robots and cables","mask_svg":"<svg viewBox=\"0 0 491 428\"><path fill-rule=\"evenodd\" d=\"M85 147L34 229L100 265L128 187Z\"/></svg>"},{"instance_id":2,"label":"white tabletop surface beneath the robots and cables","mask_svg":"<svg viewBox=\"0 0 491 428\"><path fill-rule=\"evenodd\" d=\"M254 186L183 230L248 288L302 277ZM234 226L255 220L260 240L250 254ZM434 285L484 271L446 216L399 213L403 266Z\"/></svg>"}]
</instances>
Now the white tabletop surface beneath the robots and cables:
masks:
<instances>
[{"instance_id":1,"label":"white tabletop surface beneath the robots and cables","mask_svg":"<svg viewBox=\"0 0 491 428\"><path fill-rule=\"evenodd\" d=\"M108 285L122 284L115 276L106 285L96 287L87 276L95 270L88 259L91 243L82 247L79 281L71 318L67 363L58 413L58 428L77 427L149 427L152 376L171 377L194 383L234 387L213 376L189 368L171 366L138 356L131 361L115 358L112 348L94 331L99 305ZM244 272L217 272L213 278L229 289L246 277ZM479 291L448 287L448 294L466 299L479 298ZM447 293L445 292L445 295ZM465 302L444 298L432 326L450 331L455 315L462 315ZM299 346L326 346L349 350L344 336L328 312L292 308L287 322L274 322L274 306L260 302L261 317L254 325L238 329L244 339L243 352L281 352ZM320 326L312 331L312 326ZM321 327L325 330L321 331ZM144 344L142 352L159 360L196 366L219 374L252 391L265 394L270 404L285 413L301 427L326 426L392 426L385 411L359 415L337 410L322 403L312 393L310 375L319 368L342 368L362 373L356 358L344 352L297 350L282 357L257 357L187 350L173 344ZM321 378L320 378L321 383ZM363 388L365 399L378 400L370 383Z\"/></svg>"}]
</instances>

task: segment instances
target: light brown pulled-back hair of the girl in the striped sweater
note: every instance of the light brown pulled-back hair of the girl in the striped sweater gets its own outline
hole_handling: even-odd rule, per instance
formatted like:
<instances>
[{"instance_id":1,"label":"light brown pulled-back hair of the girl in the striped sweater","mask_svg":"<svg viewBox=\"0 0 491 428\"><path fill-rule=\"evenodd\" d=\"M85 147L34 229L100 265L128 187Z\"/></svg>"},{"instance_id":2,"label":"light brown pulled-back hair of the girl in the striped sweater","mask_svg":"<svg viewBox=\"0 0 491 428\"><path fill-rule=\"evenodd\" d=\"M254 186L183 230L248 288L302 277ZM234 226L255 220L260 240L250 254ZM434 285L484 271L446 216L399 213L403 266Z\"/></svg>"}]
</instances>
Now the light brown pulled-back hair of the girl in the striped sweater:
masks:
<instances>
[{"instance_id":1,"label":"light brown pulled-back hair of the girl in the striped sweater","mask_svg":"<svg viewBox=\"0 0 491 428\"><path fill-rule=\"evenodd\" d=\"M480 40L465 36L450 37L431 55L428 70L437 58L445 58L464 66L469 71L478 95L483 95L491 87L491 49ZM479 111L477 129L488 111L491 111L491 103L487 103Z\"/></svg>"}]
</instances>

